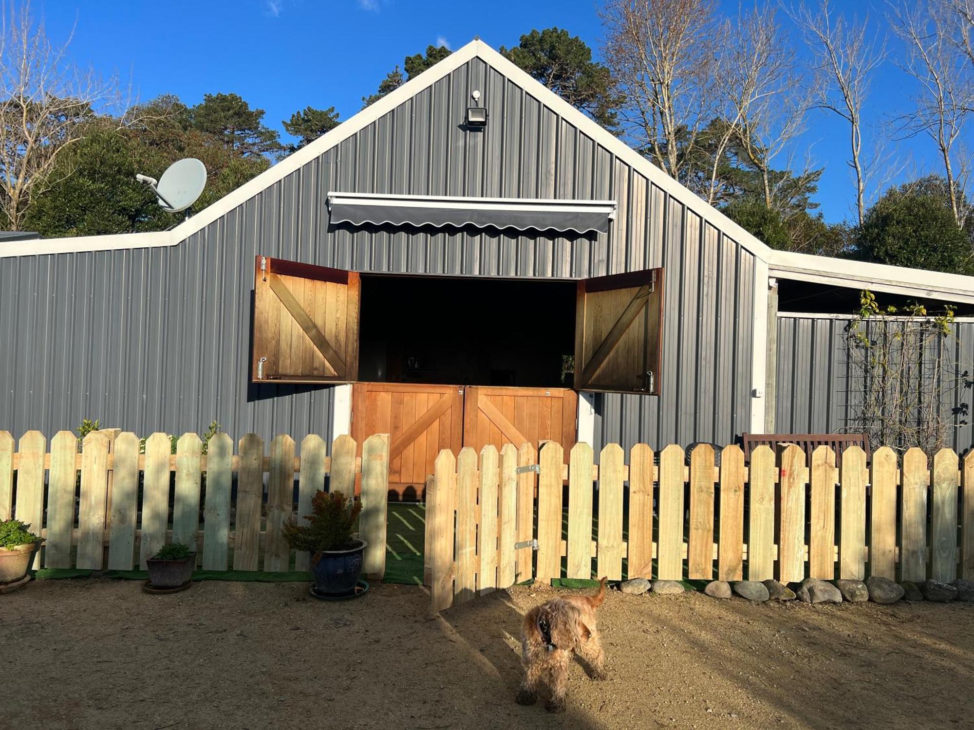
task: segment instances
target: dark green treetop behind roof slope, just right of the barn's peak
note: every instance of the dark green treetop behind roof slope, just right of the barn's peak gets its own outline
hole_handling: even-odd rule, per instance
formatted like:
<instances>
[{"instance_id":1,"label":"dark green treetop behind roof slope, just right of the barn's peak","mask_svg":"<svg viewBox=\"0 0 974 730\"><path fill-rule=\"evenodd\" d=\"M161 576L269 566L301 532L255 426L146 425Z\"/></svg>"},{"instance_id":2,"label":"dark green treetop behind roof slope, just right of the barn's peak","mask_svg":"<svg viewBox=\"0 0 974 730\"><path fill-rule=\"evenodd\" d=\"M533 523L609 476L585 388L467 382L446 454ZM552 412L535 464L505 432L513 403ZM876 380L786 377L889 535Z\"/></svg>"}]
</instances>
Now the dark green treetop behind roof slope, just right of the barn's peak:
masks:
<instances>
[{"instance_id":1,"label":"dark green treetop behind roof slope, just right of the barn's peak","mask_svg":"<svg viewBox=\"0 0 974 730\"><path fill-rule=\"evenodd\" d=\"M623 95L607 66L592 60L592 50L578 36L553 27L532 30L501 54L527 71L604 128L618 127Z\"/></svg>"}]
</instances>

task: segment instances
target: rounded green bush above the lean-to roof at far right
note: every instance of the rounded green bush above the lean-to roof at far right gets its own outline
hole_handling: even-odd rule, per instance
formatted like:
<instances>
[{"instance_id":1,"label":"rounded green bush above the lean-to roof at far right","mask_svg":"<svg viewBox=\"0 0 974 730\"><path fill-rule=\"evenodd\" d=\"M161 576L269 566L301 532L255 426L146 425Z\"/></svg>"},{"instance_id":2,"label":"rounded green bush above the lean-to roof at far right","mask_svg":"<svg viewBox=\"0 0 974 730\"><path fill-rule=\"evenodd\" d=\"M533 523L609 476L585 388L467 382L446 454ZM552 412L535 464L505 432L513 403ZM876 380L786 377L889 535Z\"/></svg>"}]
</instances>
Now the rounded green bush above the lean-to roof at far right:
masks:
<instances>
[{"instance_id":1,"label":"rounded green bush above the lean-to roof at far right","mask_svg":"<svg viewBox=\"0 0 974 730\"><path fill-rule=\"evenodd\" d=\"M970 237L930 186L888 190L856 231L856 251L882 264L974 274Z\"/></svg>"}]
</instances>

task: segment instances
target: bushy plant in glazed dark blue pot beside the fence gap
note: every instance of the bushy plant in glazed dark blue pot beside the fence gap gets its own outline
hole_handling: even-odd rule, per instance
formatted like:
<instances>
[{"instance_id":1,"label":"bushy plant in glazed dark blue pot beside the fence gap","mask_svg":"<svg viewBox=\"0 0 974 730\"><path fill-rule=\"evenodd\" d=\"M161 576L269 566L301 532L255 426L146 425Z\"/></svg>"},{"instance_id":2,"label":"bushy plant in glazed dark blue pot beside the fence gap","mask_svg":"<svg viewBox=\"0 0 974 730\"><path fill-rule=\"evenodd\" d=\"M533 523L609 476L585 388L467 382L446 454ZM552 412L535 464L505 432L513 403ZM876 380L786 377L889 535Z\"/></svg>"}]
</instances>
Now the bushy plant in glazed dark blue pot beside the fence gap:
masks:
<instances>
[{"instance_id":1,"label":"bushy plant in glazed dark blue pot beside the fence gap","mask_svg":"<svg viewBox=\"0 0 974 730\"><path fill-rule=\"evenodd\" d=\"M312 499L312 514L298 525L293 519L283 528L284 538L294 550L312 554L312 574L319 595L338 597L354 595L362 569L365 541L353 537L359 499L349 502L341 492L321 492Z\"/></svg>"}]
</instances>

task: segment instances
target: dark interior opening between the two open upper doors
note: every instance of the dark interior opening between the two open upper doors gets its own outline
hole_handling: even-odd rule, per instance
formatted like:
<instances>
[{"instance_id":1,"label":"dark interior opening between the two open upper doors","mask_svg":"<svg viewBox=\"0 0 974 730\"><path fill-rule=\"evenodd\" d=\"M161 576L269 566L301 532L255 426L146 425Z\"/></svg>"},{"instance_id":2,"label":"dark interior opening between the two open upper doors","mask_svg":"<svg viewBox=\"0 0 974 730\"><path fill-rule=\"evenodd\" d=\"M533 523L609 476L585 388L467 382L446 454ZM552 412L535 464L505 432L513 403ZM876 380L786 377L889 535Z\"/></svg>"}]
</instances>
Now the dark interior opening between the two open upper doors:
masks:
<instances>
[{"instance_id":1,"label":"dark interior opening between the two open upper doors","mask_svg":"<svg viewBox=\"0 0 974 730\"><path fill-rule=\"evenodd\" d=\"M574 281L362 274L358 378L571 387L575 292Z\"/></svg>"}]
</instances>

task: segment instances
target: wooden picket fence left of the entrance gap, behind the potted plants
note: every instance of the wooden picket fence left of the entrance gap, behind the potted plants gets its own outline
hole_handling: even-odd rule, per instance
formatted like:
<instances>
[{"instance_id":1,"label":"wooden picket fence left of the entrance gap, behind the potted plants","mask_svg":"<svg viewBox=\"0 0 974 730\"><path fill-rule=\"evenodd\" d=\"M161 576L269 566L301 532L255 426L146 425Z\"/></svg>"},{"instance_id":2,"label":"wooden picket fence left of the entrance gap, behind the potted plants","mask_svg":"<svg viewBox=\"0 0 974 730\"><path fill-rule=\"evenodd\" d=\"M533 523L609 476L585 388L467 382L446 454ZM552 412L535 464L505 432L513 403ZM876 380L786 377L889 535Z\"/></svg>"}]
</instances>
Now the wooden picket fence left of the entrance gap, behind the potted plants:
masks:
<instances>
[{"instance_id":1,"label":"wooden picket fence left of the entrance gap, behind the potted plants","mask_svg":"<svg viewBox=\"0 0 974 730\"><path fill-rule=\"evenodd\" d=\"M350 495L360 481L359 536L368 542L363 570L385 572L387 434L365 439L361 457L350 436L335 439L331 456L319 436L307 436L295 456L290 436L276 436L265 454L253 433L240 440L236 455L226 433L209 439L206 455L195 433L178 440L174 455L169 435L154 433L142 454L138 437L118 429L88 434L80 454L71 431L51 439L50 453L39 431L28 431L14 447L11 434L0 431L0 520L16 517L40 530L45 541L35 567L144 569L163 545L182 542L197 546L205 570L229 569L231 551L234 570L308 570L307 552L291 565L294 551L281 527L292 516L311 514L312 497L327 479L328 491Z\"/></svg>"}]
</instances>

